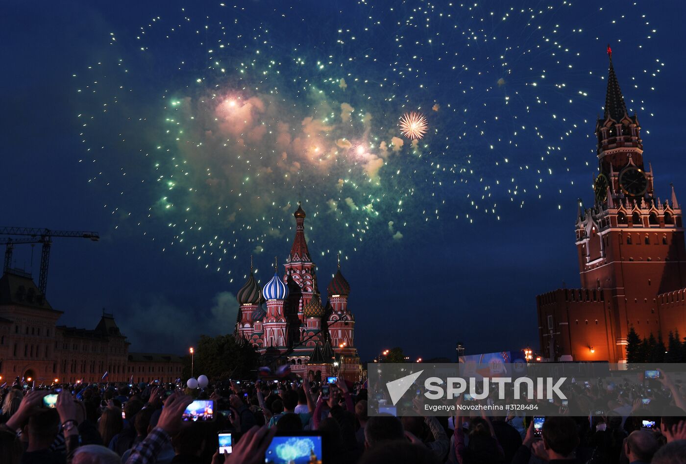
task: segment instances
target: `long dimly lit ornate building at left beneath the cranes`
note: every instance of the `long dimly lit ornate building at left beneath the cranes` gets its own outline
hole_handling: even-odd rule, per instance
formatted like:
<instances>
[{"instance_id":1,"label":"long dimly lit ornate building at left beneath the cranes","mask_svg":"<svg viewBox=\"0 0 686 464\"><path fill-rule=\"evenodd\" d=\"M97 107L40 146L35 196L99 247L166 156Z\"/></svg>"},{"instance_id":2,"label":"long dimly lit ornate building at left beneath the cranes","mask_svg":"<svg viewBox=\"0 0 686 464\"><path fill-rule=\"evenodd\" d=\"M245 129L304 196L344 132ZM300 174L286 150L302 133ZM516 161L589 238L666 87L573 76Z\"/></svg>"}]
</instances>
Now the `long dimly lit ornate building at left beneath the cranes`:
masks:
<instances>
[{"instance_id":1,"label":"long dimly lit ornate building at left beneath the cranes","mask_svg":"<svg viewBox=\"0 0 686 464\"><path fill-rule=\"evenodd\" d=\"M105 373L108 382L128 382L132 376L136 382L180 377L180 356L164 355L169 362L163 372L156 358L161 355L147 360L137 356L145 353L129 353L112 314L103 312L95 329L57 325L62 314L40 294L30 275L5 272L0 278L0 384L12 384L15 378L36 385L100 382ZM176 373L169 375L169 369Z\"/></svg>"}]
</instances>

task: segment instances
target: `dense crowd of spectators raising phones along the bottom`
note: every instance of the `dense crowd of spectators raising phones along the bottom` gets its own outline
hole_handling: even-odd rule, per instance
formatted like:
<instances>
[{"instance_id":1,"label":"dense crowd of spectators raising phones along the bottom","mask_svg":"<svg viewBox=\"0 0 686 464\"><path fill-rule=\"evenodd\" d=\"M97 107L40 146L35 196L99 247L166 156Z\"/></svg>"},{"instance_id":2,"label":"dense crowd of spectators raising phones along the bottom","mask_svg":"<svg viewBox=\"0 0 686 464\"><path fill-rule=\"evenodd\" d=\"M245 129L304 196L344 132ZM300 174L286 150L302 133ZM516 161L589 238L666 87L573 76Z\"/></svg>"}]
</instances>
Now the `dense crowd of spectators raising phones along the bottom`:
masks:
<instances>
[{"instance_id":1,"label":"dense crowd of spectators raising phones along the bottom","mask_svg":"<svg viewBox=\"0 0 686 464\"><path fill-rule=\"evenodd\" d=\"M312 450L283 462L686 464L684 395L669 378L661 382L674 394L645 402L621 385L595 386L570 398L589 415L559 406L552 417L534 418L540 413L368 415L364 385L342 378L224 380L192 390L156 383L34 388L18 381L1 391L0 463L257 464L274 437L309 433L323 438L322 456ZM183 419L196 399L209 401L204 412L211 420ZM422 402L414 399L417 411ZM230 433L230 454L220 453L220 433Z\"/></svg>"}]
</instances>

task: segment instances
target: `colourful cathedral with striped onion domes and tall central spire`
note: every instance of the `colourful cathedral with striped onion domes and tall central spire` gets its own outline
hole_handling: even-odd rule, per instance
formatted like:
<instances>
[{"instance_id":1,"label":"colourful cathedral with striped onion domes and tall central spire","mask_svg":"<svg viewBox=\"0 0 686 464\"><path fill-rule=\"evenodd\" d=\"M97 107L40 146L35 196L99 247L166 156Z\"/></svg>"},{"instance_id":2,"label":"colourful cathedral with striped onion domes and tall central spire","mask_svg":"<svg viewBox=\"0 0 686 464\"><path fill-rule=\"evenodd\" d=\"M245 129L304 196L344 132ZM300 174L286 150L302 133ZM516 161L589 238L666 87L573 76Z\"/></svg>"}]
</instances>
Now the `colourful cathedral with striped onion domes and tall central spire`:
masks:
<instances>
[{"instance_id":1,"label":"colourful cathedral with striped onion domes and tall central spire","mask_svg":"<svg viewBox=\"0 0 686 464\"><path fill-rule=\"evenodd\" d=\"M357 380L362 375L355 340L355 317L348 309L350 285L338 270L323 302L305 240L305 211L294 213L296 235L286 259L285 272L264 288L252 273L237 293L240 310L234 334L264 355L283 356L299 375L320 372ZM263 308L266 306L266 309Z\"/></svg>"}]
</instances>

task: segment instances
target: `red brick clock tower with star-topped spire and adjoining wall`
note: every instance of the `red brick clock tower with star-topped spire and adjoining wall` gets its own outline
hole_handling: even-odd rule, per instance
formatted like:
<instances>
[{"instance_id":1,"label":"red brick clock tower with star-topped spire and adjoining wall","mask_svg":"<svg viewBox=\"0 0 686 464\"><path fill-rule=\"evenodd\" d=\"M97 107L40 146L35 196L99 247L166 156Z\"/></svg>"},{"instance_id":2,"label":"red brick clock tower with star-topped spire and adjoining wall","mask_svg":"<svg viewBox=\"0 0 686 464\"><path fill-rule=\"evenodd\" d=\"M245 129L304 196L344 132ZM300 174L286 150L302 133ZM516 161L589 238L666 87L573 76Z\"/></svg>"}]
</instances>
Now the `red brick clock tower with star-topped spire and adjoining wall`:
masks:
<instances>
[{"instance_id":1,"label":"red brick clock tower with star-topped spire and adjoining wall","mask_svg":"<svg viewBox=\"0 0 686 464\"><path fill-rule=\"evenodd\" d=\"M612 51L598 119L593 206L576 220L581 287L536 297L541 352L549 360L626 362L626 336L686 334L686 248L681 207L654 194L641 125L628 115Z\"/></svg>"}]
</instances>

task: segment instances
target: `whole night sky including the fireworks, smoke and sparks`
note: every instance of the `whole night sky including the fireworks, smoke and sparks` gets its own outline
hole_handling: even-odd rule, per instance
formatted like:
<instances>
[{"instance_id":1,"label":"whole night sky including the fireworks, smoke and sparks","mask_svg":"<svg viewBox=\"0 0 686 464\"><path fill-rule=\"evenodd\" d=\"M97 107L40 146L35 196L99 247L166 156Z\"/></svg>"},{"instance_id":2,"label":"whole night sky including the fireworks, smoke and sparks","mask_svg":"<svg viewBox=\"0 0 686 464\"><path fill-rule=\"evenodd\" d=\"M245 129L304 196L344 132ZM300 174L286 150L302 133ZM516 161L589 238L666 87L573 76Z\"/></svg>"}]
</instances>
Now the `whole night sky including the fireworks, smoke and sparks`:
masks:
<instances>
[{"instance_id":1,"label":"whole night sky including the fireworks, smoke and sparks","mask_svg":"<svg viewBox=\"0 0 686 464\"><path fill-rule=\"evenodd\" d=\"M233 331L250 255L265 283L302 199L363 360L537 347L536 294L579 284L606 44L657 194L686 201L686 6L447 3L4 3L0 225L102 237L54 242L60 323L105 308L130 351ZM37 279L39 255L14 265Z\"/></svg>"}]
</instances>

